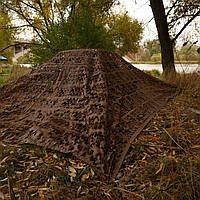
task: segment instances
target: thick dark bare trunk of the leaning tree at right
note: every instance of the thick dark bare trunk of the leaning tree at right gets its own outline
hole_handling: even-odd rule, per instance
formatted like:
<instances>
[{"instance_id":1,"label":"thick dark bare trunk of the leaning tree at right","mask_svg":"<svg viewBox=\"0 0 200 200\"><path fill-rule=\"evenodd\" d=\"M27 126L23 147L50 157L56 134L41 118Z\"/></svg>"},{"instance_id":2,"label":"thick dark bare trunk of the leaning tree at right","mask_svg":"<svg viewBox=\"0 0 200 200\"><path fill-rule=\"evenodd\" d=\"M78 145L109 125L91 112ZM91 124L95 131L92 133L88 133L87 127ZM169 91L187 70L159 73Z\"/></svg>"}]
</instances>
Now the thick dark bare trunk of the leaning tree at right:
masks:
<instances>
[{"instance_id":1,"label":"thick dark bare trunk of the leaning tree at right","mask_svg":"<svg viewBox=\"0 0 200 200\"><path fill-rule=\"evenodd\" d=\"M150 0L150 5L160 40L163 75L164 77L175 75L173 45L169 37L167 16L165 15L163 1Z\"/></svg>"}]
</instances>

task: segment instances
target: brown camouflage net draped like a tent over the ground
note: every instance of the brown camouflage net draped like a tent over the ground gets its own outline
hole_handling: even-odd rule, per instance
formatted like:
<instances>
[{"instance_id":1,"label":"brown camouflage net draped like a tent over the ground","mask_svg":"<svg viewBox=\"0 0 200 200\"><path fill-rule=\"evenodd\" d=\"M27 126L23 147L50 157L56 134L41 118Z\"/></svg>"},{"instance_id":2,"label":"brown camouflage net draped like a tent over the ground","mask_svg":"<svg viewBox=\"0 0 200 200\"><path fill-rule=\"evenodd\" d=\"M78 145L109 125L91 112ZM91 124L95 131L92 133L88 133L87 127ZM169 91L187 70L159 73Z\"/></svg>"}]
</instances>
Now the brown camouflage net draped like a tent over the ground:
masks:
<instances>
[{"instance_id":1,"label":"brown camouflage net draped like a tent over the ground","mask_svg":"<svg viewBox=\"0 0 200 200\"><path fill-rule=\"evenodd\" d=\"M71 152L114 178L135 137L175 93L115 53L63 51L0 88L0 141Z\"/></svg>"}]
</instances>

